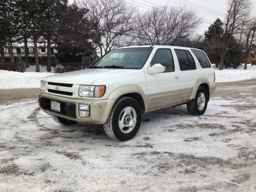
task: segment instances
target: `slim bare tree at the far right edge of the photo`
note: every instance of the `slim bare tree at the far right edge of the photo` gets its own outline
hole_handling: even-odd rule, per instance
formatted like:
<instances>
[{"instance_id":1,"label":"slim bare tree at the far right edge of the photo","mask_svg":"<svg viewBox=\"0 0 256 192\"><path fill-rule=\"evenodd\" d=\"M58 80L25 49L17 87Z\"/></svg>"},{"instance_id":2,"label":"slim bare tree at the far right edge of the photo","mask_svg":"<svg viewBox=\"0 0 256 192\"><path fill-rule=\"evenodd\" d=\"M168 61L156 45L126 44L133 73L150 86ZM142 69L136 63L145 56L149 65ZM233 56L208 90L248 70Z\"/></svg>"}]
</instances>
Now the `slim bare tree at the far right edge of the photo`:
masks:
<instances>
[{"instance_id":1,"label":"slim bare tree at the far right edge of the photo","mask_svg":"<svg viewBox=\"0 0 256 192\"><path fill-rule=\"evenodd\" d=\"M245 59L244 59L244 69L247 69L248 55L250 53L251 45L255 39L256 31L256 18L254 17L251 22L248 23L245 30L246 35L246 46L245 46Z\"/></svg>"}]
</instances>

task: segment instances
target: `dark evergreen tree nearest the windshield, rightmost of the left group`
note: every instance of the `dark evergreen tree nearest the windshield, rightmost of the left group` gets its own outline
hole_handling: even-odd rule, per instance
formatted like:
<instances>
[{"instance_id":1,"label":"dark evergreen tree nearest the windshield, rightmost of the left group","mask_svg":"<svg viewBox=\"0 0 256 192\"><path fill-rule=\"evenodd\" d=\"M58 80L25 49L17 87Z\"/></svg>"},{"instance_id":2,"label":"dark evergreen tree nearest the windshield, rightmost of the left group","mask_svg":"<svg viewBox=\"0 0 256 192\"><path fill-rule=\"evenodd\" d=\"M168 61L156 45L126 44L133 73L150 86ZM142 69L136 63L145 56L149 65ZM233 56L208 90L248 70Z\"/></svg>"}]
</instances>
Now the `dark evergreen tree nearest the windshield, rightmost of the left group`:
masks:
<instances>
[{"instance_id":1,"label":"dark evergreen tree nearest the windshield, rightmost of the left group","mask_svg":"<svg viewBox=\"0 0 256 192\"><path fill-rule=\"evenodd\" d=\"M62 9L55 39L60 62L69 62L77 56L81 60L82 55L93 52L87 14L88 10L79 8L76 2Z\"/></svg>"}]
</instances>

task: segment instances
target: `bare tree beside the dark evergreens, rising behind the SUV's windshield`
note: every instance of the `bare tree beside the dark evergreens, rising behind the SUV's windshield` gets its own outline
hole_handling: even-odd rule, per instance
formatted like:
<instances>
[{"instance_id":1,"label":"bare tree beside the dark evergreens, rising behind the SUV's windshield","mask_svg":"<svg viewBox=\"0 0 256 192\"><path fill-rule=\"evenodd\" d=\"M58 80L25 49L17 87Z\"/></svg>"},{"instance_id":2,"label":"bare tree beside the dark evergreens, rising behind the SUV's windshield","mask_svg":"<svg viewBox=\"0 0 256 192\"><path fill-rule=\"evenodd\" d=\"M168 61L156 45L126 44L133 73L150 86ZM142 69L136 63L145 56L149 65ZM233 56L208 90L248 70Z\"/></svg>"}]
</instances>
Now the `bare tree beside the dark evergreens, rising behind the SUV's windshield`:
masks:
<instances>
[{"instance_id":1,"label":"bare tree beside the dark evergreens, rising behind the SUV's windshield","mask_svg":"<svg viewBox=\"0 0 256 192\"><path fill-rule=\"evenodd\" d=\"M88 16L93 31L93 42L100 54L123 44L123 36L133 31L134 11L125 1L81 0L79 5L89 10Z\"/></svg>"}]
</instances>

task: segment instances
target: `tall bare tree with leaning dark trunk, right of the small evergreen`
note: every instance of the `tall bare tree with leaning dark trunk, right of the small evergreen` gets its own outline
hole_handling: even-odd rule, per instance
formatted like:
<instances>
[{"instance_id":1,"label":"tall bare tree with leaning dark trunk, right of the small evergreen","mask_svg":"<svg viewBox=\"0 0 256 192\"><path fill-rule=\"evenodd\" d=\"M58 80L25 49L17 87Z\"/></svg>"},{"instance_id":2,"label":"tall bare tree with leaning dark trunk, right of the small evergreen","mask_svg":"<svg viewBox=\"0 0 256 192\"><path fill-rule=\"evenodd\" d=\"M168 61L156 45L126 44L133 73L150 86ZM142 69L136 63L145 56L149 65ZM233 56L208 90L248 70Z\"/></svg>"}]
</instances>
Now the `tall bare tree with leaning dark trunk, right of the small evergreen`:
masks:
<instances>
[{"instance_id":1,"label":"tall bare tree with leaning dark trunk, right of the small evergreen","mask_svg":"<svg viewBox=\"0 0 256 192\"><path fill-rule=\"evenodd\" d=\"M225 30L220 52L220 70L224 68L224 58L232 36L239 34L242 26L248 21L250 5L249 0L228 0Z\"/></svg>"}]
</instances>

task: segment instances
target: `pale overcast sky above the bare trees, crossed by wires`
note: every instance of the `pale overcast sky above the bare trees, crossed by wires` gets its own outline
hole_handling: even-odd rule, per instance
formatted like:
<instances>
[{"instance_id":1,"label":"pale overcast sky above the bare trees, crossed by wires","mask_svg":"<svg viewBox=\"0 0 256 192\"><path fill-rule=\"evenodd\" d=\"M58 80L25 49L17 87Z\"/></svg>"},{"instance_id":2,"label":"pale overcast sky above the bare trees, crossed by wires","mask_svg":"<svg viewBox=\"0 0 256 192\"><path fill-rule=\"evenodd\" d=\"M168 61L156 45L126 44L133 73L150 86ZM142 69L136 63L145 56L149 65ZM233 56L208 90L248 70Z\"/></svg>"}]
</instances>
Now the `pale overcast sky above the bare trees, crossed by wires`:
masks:
<instances>
[{"instance_id":1,"label":"pale overcast sky above the bare trees, crossed by wires","mask_svg":"<svg viewBox=\"0 0 256 192\"><path fill-rule=\"evenodd\" d=\"M94 0L97 1L97 0ZM122 1L122 0L121 0ZM227 9L227 0L125 0L128 4L137 5L141 10L151 9L152 6L157 5L176 5L185 6L188 9L194 9L198 13L198 17L202 18L202 24L198 27L196 33L204 34L208 30L210 24L219 17L224 21L224 14ZM69 0L73 3L73 0ZM256 17L256 0L251 0L252 9L251 14Z\"/></svg>"}]
</instances>

